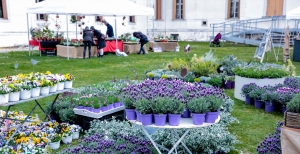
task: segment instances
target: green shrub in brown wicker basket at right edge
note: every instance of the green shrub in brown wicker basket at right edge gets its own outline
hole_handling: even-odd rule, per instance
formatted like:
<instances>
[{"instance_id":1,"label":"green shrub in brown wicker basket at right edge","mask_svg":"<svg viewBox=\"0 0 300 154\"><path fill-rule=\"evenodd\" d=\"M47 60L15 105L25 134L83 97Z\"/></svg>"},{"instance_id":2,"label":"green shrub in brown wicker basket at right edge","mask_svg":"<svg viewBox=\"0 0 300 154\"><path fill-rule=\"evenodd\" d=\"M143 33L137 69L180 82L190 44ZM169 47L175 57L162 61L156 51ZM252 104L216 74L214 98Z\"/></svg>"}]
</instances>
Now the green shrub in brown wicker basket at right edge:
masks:
<instances>
[{"instance_id":1,"label":"green shrub in brown wicker basket at right edge","mask_svg":"<svg viewBox=\"0 0 300 154\"><path fill-rule=\"evenodd\" d=\"M299 129L300 128L300 94L287 103L285 112L285 126Z\"/></svg>"}]
</instances>

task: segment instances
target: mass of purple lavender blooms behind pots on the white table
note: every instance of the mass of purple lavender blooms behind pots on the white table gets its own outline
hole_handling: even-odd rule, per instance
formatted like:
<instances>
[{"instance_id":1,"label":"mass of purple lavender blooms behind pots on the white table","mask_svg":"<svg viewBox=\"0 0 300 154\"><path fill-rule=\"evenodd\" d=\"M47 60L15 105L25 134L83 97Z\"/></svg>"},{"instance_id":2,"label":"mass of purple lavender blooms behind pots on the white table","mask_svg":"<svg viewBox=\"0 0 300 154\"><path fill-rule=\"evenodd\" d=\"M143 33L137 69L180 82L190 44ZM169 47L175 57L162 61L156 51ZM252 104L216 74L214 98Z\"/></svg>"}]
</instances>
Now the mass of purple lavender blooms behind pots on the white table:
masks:
<instances>
[{"instance_id":1,"label":"mass of purple lavender blooms behind pots on the white table","mask_svg":"<svg viewBox=\"0 0 300 154\"><path fill-rule=\"evenodd\" d=\"M217 87L207 87L202 84L191 84L181 80L145 80L140 84L128 85L121 91L122 98L134 101L140 99L152 100L157 97L174 98L187 103L193 98L203 96L217 96L225 98L225 93Z\"/></svg>"}]
</instances>

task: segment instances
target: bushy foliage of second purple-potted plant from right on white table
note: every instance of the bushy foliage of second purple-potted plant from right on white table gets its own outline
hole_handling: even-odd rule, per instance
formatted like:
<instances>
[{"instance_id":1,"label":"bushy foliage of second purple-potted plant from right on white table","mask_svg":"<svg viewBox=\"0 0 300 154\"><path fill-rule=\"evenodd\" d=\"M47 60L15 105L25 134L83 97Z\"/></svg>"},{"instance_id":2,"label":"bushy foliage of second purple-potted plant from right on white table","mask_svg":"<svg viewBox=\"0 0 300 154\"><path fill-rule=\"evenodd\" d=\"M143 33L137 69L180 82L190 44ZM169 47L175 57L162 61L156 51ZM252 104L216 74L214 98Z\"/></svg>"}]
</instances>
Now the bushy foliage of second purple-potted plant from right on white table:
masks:
<instances>
[{"instance_id":1,"label":"bushy foliage of second purple-potted plant from right on white table","mask_svg":"<svg viewBox=\"0 0 300 154\"><path fill-rule=\"evenodd\" d=\"M192 113L206 113L209 111L210 104L205 97L194 98L187 103L189 110Z\"/></svg>"}]
</instances>

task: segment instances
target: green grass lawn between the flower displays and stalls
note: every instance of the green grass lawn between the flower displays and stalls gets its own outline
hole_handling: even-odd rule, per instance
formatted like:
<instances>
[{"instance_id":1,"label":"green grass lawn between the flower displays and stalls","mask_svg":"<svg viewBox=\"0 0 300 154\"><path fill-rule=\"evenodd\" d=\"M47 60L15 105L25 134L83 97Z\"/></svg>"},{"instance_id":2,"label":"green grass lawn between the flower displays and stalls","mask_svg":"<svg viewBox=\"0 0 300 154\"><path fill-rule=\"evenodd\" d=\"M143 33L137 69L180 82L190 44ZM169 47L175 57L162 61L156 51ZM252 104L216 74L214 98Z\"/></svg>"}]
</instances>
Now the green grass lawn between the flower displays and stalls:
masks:
<instances>
[{"instance_id":1,"label":"green grass lawn between the flower displays and stalls","mask_svg":"<svg viewBox=\"0 0 300 154\"><path fill-rule=\"evenodd\" d=\"M114 54L106 55L104 58L93 57L91 59L70 59L62 57L40 57L37 52L33 56L28 56L28 52L9 52L0 54L0 76L16 75L18 73L29 73L33 71L30 59L40 61L35 67L34 72L52 73L72 73L76 76L74 87L82 87L88 84L97 84L99 82L112 80L114 77L135 79L145 78L146 70L153 70L164 67L170 60L174 58L191 58L194 54L204 55L209 51L208 43L199 42L179 42L181 52L150 52L147 55L132 54L128 57L117 57ZM183 46L190 44L191 52L182 52ZM253 61L255 47L241 44L224 43L221 48L212 48L214 54L218 58L234 54L235 57L244 61ZM277 49L276 49L277 51ZM273 53L268 53L268 62L276 62ZM292 56L291 56L292 57ZM265 59L266 61L266 59ZM282 62L282 49L279 54L279 61ZM19 64L18 69L14 69L15 63ZM280 63L280 62L279 62ZM299 62L293 62L296 68L300 67ZM137 74L133 70L136 70ZM299 74L299 69L296 70ZM257 144L268 134L274 131L276 123L283 120L280 113L266 113L263 110L255 109L253 106L245 105L240 100L234 98L233 90L226 90L226 94L235 101L232 115L237 117L239 123L229 126L231 133L235 134L241 141L236 145L236 149L243 153L255 153ZM48 97L39 102L42 106L50 103L54 98ZM29 113L34 102L27 102L12 107L12 110L24 111ZM6 109L1 107L0 109ZM37 109L34 114L38 114L40 118L43 114ZM44 115L43 115L44 116Z\"/></svg>"}]
</instances>

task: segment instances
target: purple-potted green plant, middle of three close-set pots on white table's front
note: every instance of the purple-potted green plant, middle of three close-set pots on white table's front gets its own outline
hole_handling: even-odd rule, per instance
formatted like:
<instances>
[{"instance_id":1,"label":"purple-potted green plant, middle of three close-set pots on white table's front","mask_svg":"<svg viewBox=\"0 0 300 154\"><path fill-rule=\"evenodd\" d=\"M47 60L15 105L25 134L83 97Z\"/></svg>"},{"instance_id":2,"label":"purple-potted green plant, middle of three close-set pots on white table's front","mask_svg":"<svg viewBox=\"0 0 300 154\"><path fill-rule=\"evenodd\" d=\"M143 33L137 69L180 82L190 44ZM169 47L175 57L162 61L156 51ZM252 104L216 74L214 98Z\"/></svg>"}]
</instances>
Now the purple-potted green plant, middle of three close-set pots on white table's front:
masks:
<instances>
[{"instance_id":1,"label":"purple-potted green plant, middle of three close-set pots on white table's front","mask_svg":"<svg viewBox=\"0 0 300 154\"><path fill-rule=\"evenodd\" d=\"M167 120L167 113L168 113L168 100L164 97L157 97L151 103L151 110L154 114L154 121L156 126L164 126Z\"/></svg>"}]
</instances>

